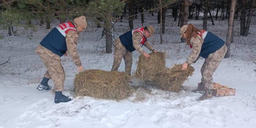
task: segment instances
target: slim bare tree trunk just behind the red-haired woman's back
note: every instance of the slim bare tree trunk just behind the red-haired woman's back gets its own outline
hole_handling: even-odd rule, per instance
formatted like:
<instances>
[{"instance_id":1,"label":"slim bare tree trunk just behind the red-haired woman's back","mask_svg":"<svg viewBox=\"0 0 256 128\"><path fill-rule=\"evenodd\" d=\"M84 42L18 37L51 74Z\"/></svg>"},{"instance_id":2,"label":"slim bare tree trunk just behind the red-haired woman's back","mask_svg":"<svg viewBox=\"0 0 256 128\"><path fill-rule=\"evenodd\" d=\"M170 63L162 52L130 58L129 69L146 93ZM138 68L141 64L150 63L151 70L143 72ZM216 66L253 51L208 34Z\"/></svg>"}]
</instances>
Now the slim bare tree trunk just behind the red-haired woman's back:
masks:
<instances>
[{"instance_id":1,"label":"slim bare tree trunk just behind the red-haired woman's back","mask_svg":"<svg viewBox=\"0 0 256 128\"><path fill-rule=\"evenodd\" d=\"M233 30L233 22L234 22L234 11L236 7L236 0L231 1L231 7L230 7L230 16L229 16L229 23L228 23L228 33L226 36L226 46L228 47L227 53L224 58L230 57L230 42L232 37L232 30Z\"/></svg>"}]
</instances>

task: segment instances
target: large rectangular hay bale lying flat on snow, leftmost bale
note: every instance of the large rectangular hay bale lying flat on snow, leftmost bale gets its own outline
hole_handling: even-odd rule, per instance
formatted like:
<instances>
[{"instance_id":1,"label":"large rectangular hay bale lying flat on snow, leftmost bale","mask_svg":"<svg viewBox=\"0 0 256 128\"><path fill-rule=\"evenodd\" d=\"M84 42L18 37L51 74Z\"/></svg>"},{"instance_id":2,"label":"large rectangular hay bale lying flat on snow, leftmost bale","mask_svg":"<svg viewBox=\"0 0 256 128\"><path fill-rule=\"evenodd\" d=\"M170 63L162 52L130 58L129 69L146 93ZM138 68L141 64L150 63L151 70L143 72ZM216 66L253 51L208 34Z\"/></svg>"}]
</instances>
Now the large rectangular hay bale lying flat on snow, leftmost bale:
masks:
<instances>
[{"instance_id":1,"label":"large rectangular hay bale lying flat on snow, leftmost bale","mask_svg":"<svg viewBox=\"0 0 256 128\"><path fill-rule=\"evenodd\" d=\"M77 74L74 86L78 96L121 100L132 93L128 81L130 76L124 72L92 69Z\"/></svg>"}]
</instances>

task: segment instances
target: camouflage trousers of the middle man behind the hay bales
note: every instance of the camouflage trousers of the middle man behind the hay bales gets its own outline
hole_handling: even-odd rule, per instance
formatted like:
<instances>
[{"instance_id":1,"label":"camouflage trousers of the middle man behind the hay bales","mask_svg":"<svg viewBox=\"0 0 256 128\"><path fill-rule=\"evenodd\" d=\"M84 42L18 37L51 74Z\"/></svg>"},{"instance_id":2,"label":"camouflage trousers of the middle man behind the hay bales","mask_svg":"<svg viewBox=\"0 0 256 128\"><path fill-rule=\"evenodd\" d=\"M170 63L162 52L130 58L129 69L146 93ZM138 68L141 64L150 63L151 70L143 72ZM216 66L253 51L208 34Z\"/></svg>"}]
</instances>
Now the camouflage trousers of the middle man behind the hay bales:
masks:
<instances>
[{"instance_id":1,"label":"camouflage trousers of the middle man behind the hay bales","mask_svg":"<svg viewBox=\"0 0 256 128\"><path fill-rule=\"evenodd\" d=\"M111 71L117 71L122 58L124 58L125 63L125 73L131 75L132 70L132 52L125 49L120 39L117 38L114 42L115 51L114 51L114 62Z\"/></svg>"}]
</instances>

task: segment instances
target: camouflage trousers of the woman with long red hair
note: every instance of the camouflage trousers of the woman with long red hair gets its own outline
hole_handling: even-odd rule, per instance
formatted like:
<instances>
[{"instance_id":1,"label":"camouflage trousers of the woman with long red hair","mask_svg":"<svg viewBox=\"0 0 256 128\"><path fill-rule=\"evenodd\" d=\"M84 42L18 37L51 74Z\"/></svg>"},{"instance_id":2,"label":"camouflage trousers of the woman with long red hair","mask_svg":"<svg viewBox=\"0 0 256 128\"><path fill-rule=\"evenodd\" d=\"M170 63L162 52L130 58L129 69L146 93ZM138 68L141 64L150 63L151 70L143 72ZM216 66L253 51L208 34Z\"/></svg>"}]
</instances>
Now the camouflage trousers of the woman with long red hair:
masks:
<instances>
[{"instance_id":1,"label":"camouflage trousers of the woman with long red hair","mask_svg":"<svg viewBox=\"0 0 256 128\"><path fill-rule=\"evenodd\" d=\"M227 52L227 46L224 44L220 49L210 54L208 58L205 58L205 62L201 68L202 84L205 86L205 90L213 89L213 73L220 65L221 60L224 58Z\"/></svg>"}]
</instances>

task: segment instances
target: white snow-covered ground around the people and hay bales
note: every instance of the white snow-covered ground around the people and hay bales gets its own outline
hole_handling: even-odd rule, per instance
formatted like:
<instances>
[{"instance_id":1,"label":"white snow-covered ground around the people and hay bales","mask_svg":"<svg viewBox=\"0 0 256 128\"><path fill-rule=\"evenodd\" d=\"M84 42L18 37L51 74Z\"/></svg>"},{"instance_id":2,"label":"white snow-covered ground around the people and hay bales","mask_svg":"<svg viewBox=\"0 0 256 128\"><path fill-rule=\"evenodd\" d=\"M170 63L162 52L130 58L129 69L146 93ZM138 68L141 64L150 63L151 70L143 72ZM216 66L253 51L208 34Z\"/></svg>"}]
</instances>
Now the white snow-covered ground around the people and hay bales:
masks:
<instances>
[{"instance_id":1,"label":"white snow-covered ground around the people and hay bales","mask_svg":"<svg viewBox=\"0 0 256 128\"><path fill-rule=\"evenodd\" d=\"M138 16L140 18L140 16ZM156 28L150 39L158 51L167 53L167 66L183 63L190 54L189 46L179 43L179 27L173 22L170 13L166 17L164 44L159 44L160 25L157 16L146 15L145 26ZM35 48L50 31L38 27L38 31L28 37L30 31L18 30L17 36L0 34L0 63L11 58L9 63L0 66L0 128L255 128L256 125L256 26L253 17L251 34L239 36L240 22L236 20L234 43L231 57L224 59L214 73L214 82L236 88L236 96L214 97L214 100L197 101L201 94L192 93L200 82L200 68L203 59L195 67L193 77L183 84L186 90L180 93L166 92L152 87L139 89L123 101L100 100L91 97L75 97L67 103L54 103L52 91L36 89L46 68L35 54ZM58 24L54 22L52 28ZM202 20L190 20L202 28ZM208 31L226 39L227 21L208 21ZM135 19L134 27L140 27L140 19ZM128 20L115 24L115 38L129 30ZM113 54L104 53L105 39L101 39L102 28L96 28L89 20L89 27L81 33L78 53L87 69L110 70ZM94 46L95 45L95 46ZM145 47L143 47L145 49ZM148 50L146 50L149 52ZM133 67L139 54L133 53ZM66 72L64 94L74 96L73 79L77 68L71 58L62 57ZM124 62L120 71L124 71ZM49 84L53 85L52 81Z\"/></svg>"}]
</instances>

